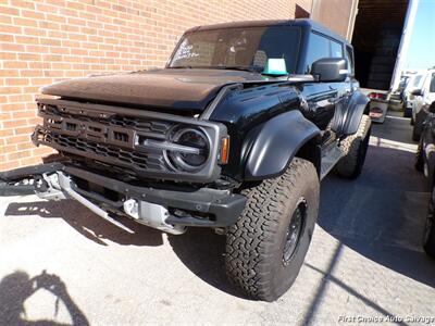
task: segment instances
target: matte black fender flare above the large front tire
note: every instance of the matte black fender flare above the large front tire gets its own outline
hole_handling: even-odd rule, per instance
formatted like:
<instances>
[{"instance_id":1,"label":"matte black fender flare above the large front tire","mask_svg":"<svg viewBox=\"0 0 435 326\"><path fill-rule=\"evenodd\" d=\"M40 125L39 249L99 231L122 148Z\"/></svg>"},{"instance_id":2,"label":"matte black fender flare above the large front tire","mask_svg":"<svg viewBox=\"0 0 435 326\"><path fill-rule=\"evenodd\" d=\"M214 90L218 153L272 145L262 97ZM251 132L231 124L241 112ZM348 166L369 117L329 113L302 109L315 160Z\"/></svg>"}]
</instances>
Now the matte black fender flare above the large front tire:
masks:
<instances>
[{"instance_id":1,"label":"matte black fender flare above the large front tire","mask_svg":"<svg viewBox=\"0 0 435 326\"><path fill-rule=\"evenodd\" d=\"M259 131L245 166L246 180L262 180L285 172L298 150L320 136L320 129L299 110L278 114Z\"/></svg>"}]
</instances>

